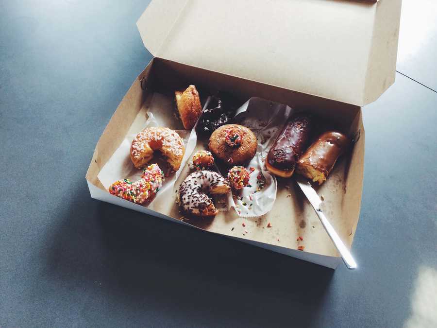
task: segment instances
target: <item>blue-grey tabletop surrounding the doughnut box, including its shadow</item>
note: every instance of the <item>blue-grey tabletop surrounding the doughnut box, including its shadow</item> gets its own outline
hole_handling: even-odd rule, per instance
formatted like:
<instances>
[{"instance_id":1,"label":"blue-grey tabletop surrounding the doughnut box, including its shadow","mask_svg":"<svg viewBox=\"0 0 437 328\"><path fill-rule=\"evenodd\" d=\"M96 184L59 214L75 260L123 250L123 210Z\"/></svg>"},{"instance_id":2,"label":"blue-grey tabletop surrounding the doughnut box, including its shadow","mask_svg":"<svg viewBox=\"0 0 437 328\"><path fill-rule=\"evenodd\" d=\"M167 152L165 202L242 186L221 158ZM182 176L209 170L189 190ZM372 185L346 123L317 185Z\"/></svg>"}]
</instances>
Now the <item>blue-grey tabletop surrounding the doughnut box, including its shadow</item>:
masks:
<instances>
[{"instance_id":1,"label":"blue-grey tabletop surrounding the doughnut box, including its shadow","mask_svg":"<svg viewBox=\"0 0 437 328\"><path fill-rule=\"evenodd\" d=\"M363 109L354 272L90 198L147 2L0 1L0 327L436 327L437 93L400 73Z\"/></svg>"}]
</instances>

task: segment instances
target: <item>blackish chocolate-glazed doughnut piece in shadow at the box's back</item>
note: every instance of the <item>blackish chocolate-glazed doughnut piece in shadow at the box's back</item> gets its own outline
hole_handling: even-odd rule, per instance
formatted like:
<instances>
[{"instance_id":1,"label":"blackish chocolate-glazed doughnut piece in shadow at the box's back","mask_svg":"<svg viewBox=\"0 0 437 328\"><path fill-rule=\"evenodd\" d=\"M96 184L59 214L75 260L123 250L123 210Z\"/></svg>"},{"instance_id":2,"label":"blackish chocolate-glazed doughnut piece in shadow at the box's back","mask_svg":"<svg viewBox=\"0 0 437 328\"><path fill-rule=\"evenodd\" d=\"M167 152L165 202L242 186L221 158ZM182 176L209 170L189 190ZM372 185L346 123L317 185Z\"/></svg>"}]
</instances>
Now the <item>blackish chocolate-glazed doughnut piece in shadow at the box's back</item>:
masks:
<instances>
[{"instance_id":1,"label":"blackish chocolate-glazed doughnut piece in shadow at the box's back","mask_svg":"<svg viewBox=\"0 0 437 328\"><path fill-rule=\"evenodd\" d=\"M229 95L224 93L211 96L209 104L202 111L196 132L203 136L210 136L220 126L228 124L235 116L236 106L233 105L234 102Z\"/></svg>"}]
</instances>

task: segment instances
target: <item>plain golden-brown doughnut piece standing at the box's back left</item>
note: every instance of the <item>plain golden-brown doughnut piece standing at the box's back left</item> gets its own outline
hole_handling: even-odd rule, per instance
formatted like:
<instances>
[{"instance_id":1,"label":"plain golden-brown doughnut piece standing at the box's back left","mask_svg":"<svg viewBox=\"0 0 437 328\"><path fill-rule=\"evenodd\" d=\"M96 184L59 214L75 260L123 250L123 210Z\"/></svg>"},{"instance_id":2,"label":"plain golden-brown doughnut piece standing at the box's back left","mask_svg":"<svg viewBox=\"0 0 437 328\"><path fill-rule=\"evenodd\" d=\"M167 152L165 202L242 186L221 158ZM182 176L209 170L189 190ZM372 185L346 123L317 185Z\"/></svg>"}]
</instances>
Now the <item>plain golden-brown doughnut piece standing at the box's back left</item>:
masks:
<instances>
[{"instance_id":1,"label":"plain golden-brown doughnut piece standing at the box's back left","mask_svg":"<svg viewBox=\"0 0 437 328\"><path fill-rule=\"evenodd\" d=\"M186 130L192 129L202 114L199 92L195 86L188 86L184 92L175 91L175 102L179 116Z\"/></svg>"}]
</instances>

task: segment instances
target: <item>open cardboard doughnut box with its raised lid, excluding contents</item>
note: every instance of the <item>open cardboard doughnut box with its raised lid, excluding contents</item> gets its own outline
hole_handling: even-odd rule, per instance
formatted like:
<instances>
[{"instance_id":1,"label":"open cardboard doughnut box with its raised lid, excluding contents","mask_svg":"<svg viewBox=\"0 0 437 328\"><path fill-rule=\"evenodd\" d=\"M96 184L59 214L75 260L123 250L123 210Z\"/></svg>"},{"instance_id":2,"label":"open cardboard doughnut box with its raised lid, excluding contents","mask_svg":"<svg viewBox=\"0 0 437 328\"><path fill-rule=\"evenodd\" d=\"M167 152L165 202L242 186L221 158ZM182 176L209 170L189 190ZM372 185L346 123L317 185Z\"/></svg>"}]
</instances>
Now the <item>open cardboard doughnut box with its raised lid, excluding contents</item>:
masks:
<instances>
[{"instance_id":1,"label":"open cardboard doughnut box with its raised lid, excluding contents","mask_svg":"<svg viewBox=\"0 0 437 328\"><path fill-rule=\"evenodd\" d=\"M153 0L137 27L154 58L96 145L86 173L91 197L336 268L339 254L293 177L277 178L273 208L260 217L242 218L231 208L214 218L181 220L175 190L188 175L187 165L168 201L153 210L111 195L98 175L126 136L139 132L138 120L161 110L152 108L155 94L171 102L174 90L195 85L202 105L217 90L241 104L251 97L286 104L332 121L354 138L316 188L324 213L351 248L364 173L361 106L394 83L400 11L401 0L252 0L250 6L245 0ZM203 147L198 140L196 149Z\"/></svg>"}]
</instances>

